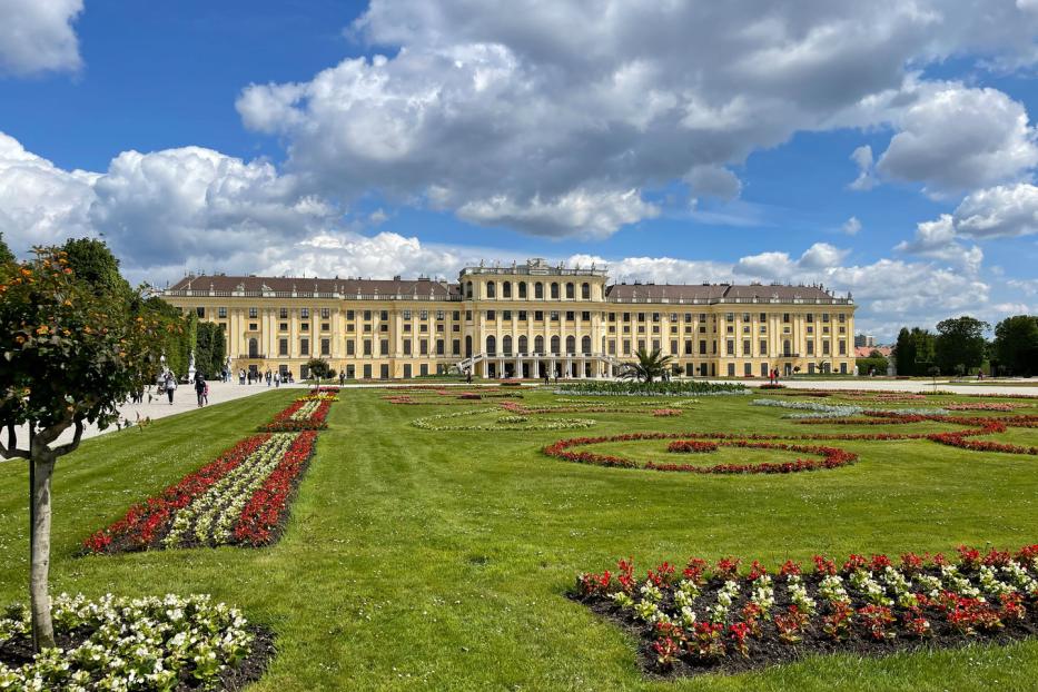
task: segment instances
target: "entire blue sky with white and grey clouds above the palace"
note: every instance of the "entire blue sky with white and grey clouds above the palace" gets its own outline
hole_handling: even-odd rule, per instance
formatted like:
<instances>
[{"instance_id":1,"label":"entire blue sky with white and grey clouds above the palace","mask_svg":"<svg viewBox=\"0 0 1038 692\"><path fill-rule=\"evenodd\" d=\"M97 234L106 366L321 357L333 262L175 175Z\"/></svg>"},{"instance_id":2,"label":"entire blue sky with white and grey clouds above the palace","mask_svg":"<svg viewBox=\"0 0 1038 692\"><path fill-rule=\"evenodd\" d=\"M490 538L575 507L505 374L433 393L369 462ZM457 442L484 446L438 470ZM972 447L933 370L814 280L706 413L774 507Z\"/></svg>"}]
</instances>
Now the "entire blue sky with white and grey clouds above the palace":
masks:
<instances>
[{"instance_id":1,"label":"entire blue sky with white and grey clouds above the palace","mask_svg":"<svg viewBox=\"0 0 1038 692\"><path fill-rule=\"evenodd\" d=\"M0 233L134 279L822 284L1038 314L1038 0L0 0Z\"/></svg>"}]
</instances>

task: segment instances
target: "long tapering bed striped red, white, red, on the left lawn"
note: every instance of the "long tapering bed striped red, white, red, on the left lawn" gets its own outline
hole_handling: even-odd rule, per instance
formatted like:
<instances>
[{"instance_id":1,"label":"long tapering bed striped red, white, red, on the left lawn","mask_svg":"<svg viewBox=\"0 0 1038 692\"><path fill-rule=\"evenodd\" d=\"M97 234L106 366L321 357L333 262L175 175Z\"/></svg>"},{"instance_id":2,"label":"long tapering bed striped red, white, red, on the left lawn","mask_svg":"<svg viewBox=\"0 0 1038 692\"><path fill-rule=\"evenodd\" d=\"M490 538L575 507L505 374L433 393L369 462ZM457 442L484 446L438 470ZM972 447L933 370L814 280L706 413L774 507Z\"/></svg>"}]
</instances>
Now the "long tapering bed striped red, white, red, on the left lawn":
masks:
<instances>
[{"instance_id":1,"label":"long tapering bed striped red, white, red, on the left lawn","mask_svg":"<svg viewBox=\"0 0 1038 692\"><path fill-rule=\"evenodd\" d=\"M92 553L263 545L287 518L317 433L256 435L83 542Z\"/></svg>"}]
</instances>

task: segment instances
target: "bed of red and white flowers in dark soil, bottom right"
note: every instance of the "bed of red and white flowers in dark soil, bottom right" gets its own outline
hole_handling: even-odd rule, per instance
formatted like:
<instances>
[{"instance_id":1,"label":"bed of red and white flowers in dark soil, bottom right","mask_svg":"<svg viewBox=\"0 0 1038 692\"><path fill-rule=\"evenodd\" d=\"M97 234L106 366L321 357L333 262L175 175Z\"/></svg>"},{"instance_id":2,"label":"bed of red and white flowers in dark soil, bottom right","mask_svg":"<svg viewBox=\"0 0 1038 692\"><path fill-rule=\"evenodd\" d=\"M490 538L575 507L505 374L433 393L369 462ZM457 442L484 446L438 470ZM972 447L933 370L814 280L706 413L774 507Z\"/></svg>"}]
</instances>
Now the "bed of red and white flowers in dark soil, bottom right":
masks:
<instances>
[{"instance_id":1,"label":"bed of red and white flowers in dark soil, bottom right","mask_svg":"<svg viewBox=\"0 0 1038 692\"><path fill-rule=\"evenodd\" d=\"M804 655L884 654L1032 636L1038 627L1038 545L1016 553L960 546L941 554L851 555L842 566L815 555L773 573L740 560L693 557L636 577L581 574L572 596L634 634L647 672L672 676L738 672Z\"/></svg>"}]
</instances>

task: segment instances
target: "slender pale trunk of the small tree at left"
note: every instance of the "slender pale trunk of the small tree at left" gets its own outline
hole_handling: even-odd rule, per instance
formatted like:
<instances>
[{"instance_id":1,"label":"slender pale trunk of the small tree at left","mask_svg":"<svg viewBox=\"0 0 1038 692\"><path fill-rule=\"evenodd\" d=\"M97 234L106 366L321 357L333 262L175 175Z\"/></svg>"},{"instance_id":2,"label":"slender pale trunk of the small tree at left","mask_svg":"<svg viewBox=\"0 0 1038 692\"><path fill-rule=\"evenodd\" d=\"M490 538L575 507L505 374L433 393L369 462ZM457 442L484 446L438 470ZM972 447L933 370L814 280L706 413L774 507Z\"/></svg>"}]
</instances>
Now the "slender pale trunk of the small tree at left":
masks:
<instances>
[{"instance_id":1,"label":"slender pale trunk of the small tree at left","mask_svg":"<svg viewBox=\"0 0 1038 692\"><path fill-rule=\"evenodd\" d=\"M32 441L32 525L29 567L29 596L32 610L32 646L36 651L55 645L55 626L50 619L50 478L57 459L52 449L39 439Z\"/></svg>"}]
</instances>

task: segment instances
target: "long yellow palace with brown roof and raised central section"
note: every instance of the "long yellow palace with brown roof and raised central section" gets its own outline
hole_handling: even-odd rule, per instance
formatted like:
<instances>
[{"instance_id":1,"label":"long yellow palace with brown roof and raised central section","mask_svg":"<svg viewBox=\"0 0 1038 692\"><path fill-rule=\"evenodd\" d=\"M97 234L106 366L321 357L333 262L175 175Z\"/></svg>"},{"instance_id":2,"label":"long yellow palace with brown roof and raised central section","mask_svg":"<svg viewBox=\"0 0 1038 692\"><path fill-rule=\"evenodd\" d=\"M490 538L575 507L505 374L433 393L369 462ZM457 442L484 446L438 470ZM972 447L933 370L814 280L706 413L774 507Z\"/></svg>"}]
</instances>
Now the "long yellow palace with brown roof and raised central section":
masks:
<instances>
[{"instance_id":1,"label":"long yellow palace with brown roof and raised central section","mask_svg":"<svg viewBox=\"0 0 1038 692\"><path fill-rule=\"evenodd\" d=\"M850 373L854 301L821 286L610 284L605 269L466 267L456 283L187 276L160 291L216 322L235 370L350 379L612 377L639 348L688 377Z\"/></svg>"}]
</instances>

